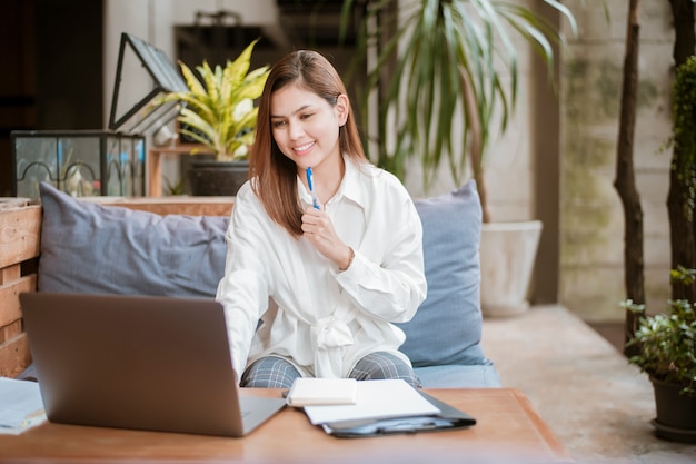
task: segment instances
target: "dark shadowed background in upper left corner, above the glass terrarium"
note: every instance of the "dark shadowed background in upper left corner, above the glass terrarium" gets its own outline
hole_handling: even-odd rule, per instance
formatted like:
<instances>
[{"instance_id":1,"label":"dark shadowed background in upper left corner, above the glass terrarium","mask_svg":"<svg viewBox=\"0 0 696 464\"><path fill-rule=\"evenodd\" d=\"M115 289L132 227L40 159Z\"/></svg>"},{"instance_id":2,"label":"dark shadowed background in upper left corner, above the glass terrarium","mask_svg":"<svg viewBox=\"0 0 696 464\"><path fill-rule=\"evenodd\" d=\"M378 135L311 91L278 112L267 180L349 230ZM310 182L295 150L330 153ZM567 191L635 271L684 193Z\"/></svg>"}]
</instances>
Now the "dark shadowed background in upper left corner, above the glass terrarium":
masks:
<instances>
[{"instance_id":1,"label":"dark shadowed background in upper left corner, above the glass terrarium","mask_svg":"<svg viewBox=\"0 0 696 464\"><path fill-rule=\"evenodd\" d=\"M10 131L102 127L102 3L2 3L0 196L11 196Z\"/></svg>"}]
</instances>

